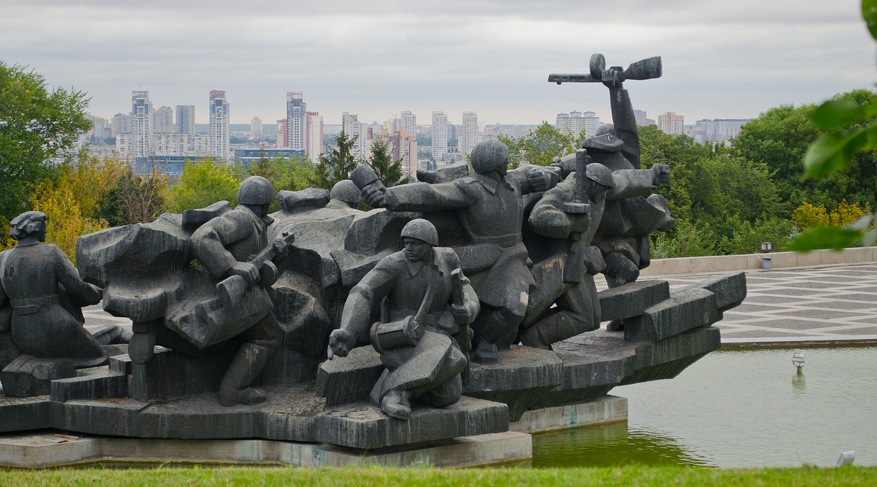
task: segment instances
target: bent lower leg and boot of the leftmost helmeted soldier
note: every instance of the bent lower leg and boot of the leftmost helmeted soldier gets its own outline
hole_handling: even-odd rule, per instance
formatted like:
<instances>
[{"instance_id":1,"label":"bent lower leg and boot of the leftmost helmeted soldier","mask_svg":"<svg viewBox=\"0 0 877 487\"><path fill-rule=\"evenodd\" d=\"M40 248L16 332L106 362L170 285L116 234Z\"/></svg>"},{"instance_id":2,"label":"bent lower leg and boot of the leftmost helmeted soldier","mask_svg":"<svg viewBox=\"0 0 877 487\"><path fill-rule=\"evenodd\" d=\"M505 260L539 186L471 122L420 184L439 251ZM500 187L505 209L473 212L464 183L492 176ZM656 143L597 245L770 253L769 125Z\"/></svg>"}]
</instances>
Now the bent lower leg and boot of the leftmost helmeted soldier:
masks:
<instances>
[{"instance_id":1,"label":"bent lower leg and boot of the leftmost helmeted soldier","mask_svg":"<svg viewBox=\"0 0 877 487\"><path fill-rule=\"evenodd\" d=\"M219 404L258 405L265 402L265 390L250 387L265 367L269 351L253 343L240 346L219 385Z\"/></svg>"}]
</instances>

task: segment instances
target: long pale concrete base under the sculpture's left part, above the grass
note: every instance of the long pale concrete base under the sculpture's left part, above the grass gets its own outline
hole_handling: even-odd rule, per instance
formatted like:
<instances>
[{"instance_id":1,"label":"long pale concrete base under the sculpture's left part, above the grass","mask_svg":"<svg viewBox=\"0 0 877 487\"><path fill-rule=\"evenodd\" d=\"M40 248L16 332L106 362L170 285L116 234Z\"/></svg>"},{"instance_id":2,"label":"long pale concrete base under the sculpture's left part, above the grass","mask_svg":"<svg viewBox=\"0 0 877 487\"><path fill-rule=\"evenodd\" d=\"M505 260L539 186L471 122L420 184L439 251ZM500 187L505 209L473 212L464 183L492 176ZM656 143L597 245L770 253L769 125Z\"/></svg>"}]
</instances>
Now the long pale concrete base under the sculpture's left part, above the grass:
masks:
<instances>
[{"instance_id":1,"label":"long pale concrete base under the sculpture's left part, above the grass","mask_svg":"<svg viewBox=\"0 0 877 487\"><path fill-rule=\"evenodd\" d=\"M0 466L41 469L61 465L165 462L289 465L292 467L474 467L532 457L526 433L488 433L421 448L357 450L277 440L144 440L77 437L55 430L0 436ZM57 435L57 436L56 436Z\"/></svg>"}]
</instances>

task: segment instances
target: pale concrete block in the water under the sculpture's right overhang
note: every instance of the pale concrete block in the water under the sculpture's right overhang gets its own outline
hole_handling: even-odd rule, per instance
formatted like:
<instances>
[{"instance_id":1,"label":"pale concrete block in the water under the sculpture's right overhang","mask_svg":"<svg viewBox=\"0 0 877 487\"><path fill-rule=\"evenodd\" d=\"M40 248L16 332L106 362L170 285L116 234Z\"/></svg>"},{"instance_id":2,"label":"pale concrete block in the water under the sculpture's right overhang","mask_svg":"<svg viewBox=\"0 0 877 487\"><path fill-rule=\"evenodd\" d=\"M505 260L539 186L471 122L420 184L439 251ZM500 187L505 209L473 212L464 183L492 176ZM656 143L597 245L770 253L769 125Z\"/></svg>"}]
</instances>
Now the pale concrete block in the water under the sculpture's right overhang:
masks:
<instances>
[{"instance_id":1,"label":"pale concrete block in the water under the sculpture's right overhang","mask_svg":"<svg viewBox=\"0 0 877 487\"><path fill-rule=\"evenodd\" d=\"M600 396L587 403L559 405L524 412L520 420L509 425L509 431L538 433L626 419L627 398Z\"/></svg>"}]
</instances>

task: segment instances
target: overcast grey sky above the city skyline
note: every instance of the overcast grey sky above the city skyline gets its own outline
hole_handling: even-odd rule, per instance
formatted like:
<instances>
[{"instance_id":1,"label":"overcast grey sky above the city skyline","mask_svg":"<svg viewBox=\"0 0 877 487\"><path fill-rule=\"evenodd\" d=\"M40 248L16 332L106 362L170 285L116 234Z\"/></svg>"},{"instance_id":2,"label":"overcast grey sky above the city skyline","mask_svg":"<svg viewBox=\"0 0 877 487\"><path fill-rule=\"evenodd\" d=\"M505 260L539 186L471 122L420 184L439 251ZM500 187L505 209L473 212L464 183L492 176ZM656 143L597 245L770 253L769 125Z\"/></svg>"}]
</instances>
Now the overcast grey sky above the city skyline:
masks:
<instances>
[{"instance_id":1,"label":"overcast grey sky above the city skyline","mask_svg":"<svg viewBox=\"0 0 877 487\"><path fill-rule=\"evenodd\" d=\"M232 123L284 117L288 90L337 124L342 111L382 122L403 110L431 123L477 111L488 124L596 111L598 84L546 82L660 55L664 75L631 81L634 108L752 118L877 81L859 0L0 0L0 60L53 86L85 90L97 116L195 104L225 90Z\"/></svg>"}]
</instances>

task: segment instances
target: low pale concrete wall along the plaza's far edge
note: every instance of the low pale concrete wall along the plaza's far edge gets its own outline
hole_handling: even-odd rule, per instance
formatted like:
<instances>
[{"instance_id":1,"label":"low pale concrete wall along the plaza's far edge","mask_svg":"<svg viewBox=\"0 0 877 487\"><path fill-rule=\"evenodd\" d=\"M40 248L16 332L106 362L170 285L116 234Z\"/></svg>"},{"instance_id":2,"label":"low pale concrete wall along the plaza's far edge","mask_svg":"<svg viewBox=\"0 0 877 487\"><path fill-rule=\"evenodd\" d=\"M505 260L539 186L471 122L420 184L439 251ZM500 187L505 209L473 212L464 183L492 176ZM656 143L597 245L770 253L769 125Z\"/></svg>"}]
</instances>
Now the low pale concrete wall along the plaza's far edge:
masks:
<instances>
[{"instance_id":1,"label":"low pale concrete wall along the plaza's far edge","mask_svg":"<svg viewBox=\"0 0 877 487\"><path fill-rule=\"evenodd\" d=\"M770 254L717 255L711 257L679 257L656 259L643 269L640 276L664 276L668 274L697 274L701 272L725 272L730 270L761 269L763 257L770 257L773 269L818 266L824 264L849 264L877 261L877 247L845 248L841 251L814 250L813 252L772 252Z\"/></svg>"}]
</instances>

